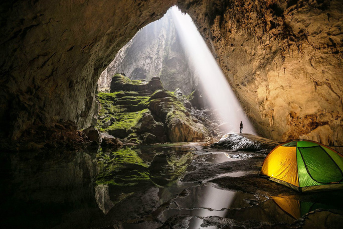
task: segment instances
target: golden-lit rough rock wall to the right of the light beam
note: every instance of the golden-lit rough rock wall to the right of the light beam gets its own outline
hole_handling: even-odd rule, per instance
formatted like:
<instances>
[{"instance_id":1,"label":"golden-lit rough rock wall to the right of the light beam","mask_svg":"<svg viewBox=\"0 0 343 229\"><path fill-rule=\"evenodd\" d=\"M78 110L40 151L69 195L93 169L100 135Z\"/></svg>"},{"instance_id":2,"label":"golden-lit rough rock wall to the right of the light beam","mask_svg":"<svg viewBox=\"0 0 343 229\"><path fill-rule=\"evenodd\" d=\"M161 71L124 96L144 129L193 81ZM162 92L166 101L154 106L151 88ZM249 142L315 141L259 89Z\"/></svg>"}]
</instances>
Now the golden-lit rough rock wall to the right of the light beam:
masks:
<instances>
[{"instance_id":1,"label":"golden-lit rough rock wall to the right of the light beam","mask_svg":"<svg viewBox=\"0 0 343 229\"><path fill-rule=\"evenodd\" d=\"M184 9L263 136L343 143L339 1L203 1Z\"/></svg>"}]
</instances>

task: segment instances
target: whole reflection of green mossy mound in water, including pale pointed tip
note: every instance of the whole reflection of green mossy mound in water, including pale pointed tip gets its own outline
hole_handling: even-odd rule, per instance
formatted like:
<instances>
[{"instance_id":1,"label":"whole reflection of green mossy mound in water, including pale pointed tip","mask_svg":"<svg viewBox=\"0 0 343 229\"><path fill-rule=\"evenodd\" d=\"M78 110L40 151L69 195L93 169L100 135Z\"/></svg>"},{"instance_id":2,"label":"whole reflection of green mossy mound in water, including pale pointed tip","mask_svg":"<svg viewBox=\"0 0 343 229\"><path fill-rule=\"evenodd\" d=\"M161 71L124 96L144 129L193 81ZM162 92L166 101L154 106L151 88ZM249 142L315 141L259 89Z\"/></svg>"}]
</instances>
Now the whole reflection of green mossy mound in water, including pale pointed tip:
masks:
<instances>
[{"instance_id":1,"label":"whole reflection of green mossy mound in water, including pale pointed tip","mask_svg":"<svg viewBox=\"0 0 343 229\"><path fill-rule=\"evenodd\" d=\"M100 150L95 187L100 209L107 214L116 203L134 194L141 186L170 186L186 172L192 158L192 148L179 146L131 146L113 152Z\"/></svg>"}]
</instances>

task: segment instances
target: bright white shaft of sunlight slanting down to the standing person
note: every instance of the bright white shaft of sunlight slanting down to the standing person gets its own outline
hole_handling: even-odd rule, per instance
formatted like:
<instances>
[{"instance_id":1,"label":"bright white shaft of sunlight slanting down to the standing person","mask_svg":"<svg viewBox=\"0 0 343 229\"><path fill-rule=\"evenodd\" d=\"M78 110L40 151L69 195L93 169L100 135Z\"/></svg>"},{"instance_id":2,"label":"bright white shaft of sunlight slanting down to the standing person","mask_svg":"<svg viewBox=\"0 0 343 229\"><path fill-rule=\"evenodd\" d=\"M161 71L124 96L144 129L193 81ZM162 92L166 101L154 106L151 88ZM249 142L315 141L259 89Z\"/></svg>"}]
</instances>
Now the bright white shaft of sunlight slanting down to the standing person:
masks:
<instances>
[{"instance_id":1,"label":"bright white shaft of sunlight slanting down to the standing person","mask_svg":"<svg viewBox=\"0 0 343 229\"><path fill-rule=\"evenodd\" d=\"M219 112L222 121L228 123L227 132L237 132L243 122L245 133L255 134L254 128L246 118L224 73L217 64L211 51L200 35L191 17L172 7L171 15L180 39L191 63L197 69L197 75L205 89L205 94L214 109Z\"/></svg>"}]
</instances>

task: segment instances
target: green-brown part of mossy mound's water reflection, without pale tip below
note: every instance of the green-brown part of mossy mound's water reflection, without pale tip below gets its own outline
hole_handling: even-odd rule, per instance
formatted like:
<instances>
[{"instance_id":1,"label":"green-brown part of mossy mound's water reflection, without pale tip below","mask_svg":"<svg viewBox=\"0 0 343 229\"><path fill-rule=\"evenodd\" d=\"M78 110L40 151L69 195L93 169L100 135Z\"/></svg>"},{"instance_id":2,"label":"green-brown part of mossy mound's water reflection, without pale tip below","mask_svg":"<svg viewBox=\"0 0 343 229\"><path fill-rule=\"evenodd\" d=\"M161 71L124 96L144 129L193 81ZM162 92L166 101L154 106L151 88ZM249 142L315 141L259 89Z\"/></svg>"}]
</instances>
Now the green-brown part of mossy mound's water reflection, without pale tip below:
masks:
<instances>
[{"instance_id":1,"label":"green-brown part of mossy mound's water reflection, without pale tip below","mask_svg":"<svg viewBox=\"0 0 343 229\"><path fill-rule=\"evenodd\" d=\"M145 151L136 147L125 147L113 152L99 151L97 184L134 187L152 181L158 185L167 185L185 173L193 156L187 148L171 149L154 150L154 156L150 155L152 149L149 148Z\"/></svg>"}]
</instances>

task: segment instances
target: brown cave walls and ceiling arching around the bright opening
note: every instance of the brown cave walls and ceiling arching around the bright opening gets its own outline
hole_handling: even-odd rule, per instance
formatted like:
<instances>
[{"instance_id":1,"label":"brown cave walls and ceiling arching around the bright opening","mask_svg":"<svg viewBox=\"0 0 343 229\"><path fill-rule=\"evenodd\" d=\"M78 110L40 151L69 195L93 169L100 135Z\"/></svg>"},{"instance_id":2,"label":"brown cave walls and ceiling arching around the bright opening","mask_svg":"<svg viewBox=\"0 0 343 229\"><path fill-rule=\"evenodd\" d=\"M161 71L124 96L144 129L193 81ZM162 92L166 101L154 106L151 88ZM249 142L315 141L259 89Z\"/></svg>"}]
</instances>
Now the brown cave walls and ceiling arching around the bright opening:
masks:
<instances>
[{"instance_id":1,"label":"brown cave walls and ceiling arching around the bright opening","mask_svg":"<svg viewBox=\"0 0 343 229\"><path fill-rule=\"evenodd\" d=\"M0 137L96 121L100 73L143 26L190 14L257 131L343 144L339 0L4 1Z\"/></svg>"}]
</instances>

